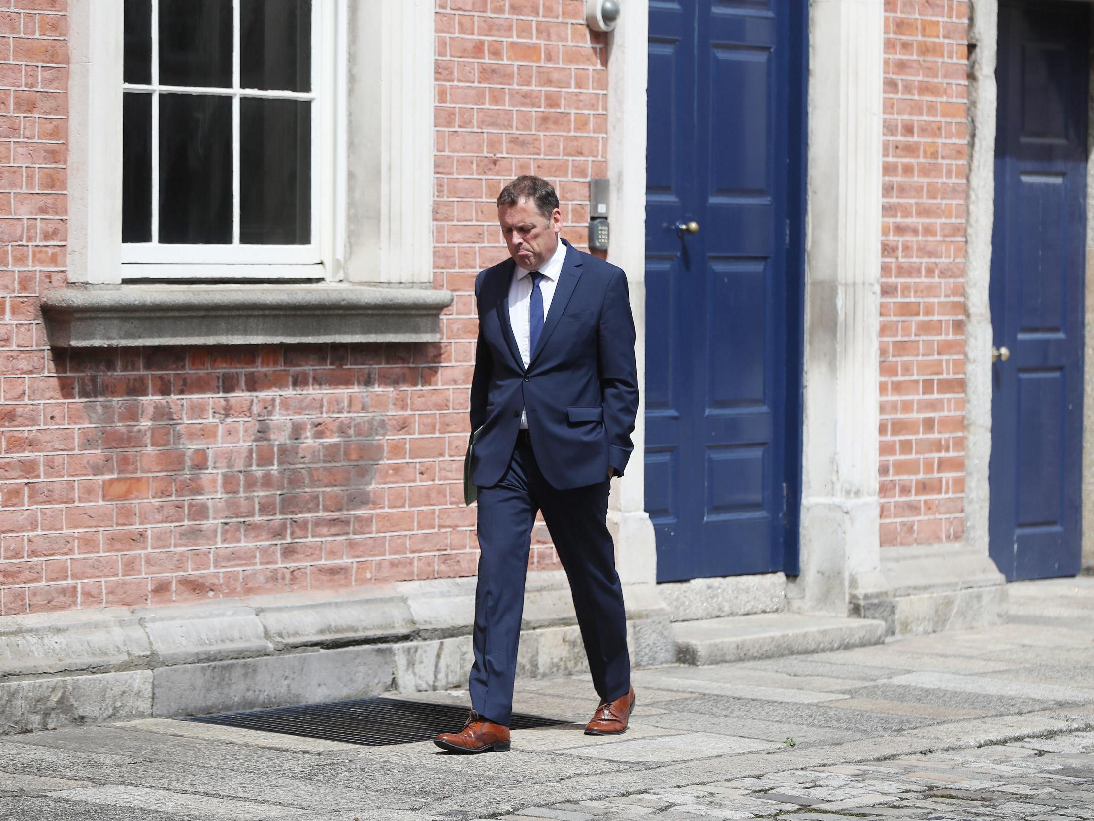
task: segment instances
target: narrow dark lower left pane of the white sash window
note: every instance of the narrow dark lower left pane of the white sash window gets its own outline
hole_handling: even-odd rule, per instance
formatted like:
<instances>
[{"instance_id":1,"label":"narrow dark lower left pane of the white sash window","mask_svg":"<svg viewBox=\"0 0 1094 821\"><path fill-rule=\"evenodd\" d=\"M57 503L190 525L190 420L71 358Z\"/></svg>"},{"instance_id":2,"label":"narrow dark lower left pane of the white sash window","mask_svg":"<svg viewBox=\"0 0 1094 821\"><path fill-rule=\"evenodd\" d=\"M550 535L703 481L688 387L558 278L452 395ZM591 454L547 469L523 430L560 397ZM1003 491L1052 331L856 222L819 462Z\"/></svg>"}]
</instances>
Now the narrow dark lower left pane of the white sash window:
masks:
<instances>
[{"instance_id":1,"label":"narrow dark lower left pane of the white sash window","mask_svg":"<svg viewBox=\"0 0 1094 821\"><path fill-rule=\"evenodd\" d=\"M121 241L152 241L152 95L123 94Z\"/></svg>"}]
</instances>

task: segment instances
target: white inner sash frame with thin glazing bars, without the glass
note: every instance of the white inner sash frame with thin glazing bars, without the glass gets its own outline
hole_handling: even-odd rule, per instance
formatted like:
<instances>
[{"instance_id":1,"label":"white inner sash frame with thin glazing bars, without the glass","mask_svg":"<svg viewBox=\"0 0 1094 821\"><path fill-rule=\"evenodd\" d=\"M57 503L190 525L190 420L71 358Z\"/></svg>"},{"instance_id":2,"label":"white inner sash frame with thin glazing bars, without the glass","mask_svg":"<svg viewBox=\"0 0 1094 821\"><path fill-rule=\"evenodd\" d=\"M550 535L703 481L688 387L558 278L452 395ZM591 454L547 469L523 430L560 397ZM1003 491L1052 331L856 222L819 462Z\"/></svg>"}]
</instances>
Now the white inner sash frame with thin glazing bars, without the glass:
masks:
<instances>
[{"instance_id":1,"label":"white inner sash frame with thin glazing bars, without the glass","mask_svg":"<svg viewBox=\"0 0 1094 821\"><path fill-rule=\"evenodd\" d=\"M234 278L326 279L325 261L331 258L335 212L335 147L338 3L325 0L312 2L311 88L310 92L260 91L240 85L240 0L232 3L232 85L202 88L162 85L159 82L159 0L152 3L152 71L149 84L125 83L123 91L152 95L152 240L148 243L123 243L121 278L138 279L203 279L210 276L209 265L232 265ZM232 221L231 244L160 244L160 175L159 175L159 95L161 93L202 94L232 97ZM244 245L240 243L240 107L241 96L269 100L306 100L311 106L311 242L307 245ZM213 277L223 275L213 271Z\"/></svg>"}]
</instances>

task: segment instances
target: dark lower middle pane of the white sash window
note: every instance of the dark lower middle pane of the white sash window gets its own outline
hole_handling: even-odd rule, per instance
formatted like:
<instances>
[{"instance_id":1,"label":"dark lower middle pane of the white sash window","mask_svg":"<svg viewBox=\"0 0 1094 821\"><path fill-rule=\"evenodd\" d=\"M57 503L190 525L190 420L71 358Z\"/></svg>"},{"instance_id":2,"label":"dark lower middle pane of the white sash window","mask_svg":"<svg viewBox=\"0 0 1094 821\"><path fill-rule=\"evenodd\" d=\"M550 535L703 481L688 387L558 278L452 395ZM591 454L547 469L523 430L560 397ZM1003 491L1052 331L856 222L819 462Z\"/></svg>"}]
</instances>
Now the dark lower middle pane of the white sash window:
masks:
<instances>
[{"instance_id":1,"label":"dark lower middle pane of the white sash window","mask_svg":"<svg viewBox=\"0 0 1094 821\"><path fill-rule=\"evenodd\" d=\"M160 242L232 242L232 97L160 95Z\"/></svg>"}]
</instances>

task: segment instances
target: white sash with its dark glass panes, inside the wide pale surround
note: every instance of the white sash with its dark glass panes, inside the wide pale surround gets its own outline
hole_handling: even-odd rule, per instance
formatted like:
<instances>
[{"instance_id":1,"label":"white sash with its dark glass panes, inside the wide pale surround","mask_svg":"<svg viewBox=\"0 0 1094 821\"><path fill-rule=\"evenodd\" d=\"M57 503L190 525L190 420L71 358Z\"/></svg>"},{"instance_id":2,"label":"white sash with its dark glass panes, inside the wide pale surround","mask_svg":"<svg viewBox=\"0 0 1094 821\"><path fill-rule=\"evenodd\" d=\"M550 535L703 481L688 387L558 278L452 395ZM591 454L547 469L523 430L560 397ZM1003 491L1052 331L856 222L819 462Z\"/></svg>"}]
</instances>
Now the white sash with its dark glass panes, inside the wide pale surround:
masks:
<instances>
[{"instance_id":1,"label":"white sash with its dark glass panes, inside the wide pale surround","mask_svg":"<svg viewBox=\"0 0 1094 821\"><path fill-rule=\"evenodd\" d=\"M125 0L123 281L327 278L336 8Z\"/></svg>"}]
</instances>

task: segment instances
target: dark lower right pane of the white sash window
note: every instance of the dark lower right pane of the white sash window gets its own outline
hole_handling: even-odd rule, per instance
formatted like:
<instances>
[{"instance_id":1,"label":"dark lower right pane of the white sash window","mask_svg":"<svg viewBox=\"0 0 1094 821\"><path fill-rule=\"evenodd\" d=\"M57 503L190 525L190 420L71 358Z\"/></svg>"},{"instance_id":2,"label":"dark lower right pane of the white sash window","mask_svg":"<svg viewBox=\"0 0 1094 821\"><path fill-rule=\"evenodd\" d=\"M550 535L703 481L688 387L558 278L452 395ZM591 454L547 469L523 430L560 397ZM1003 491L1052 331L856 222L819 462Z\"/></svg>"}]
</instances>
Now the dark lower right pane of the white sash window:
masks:
<instances>
[{"instance_id":1,"label":"dark lower right pane of the white sash window","mask_svg":"<svg viewBox=\"0 0 1094 821\"><path fill-rule=\"evenodd\" d=\"M312 109L304 100L240 101L240 242L311 242Z\"/></svg>"}]
</instances>

